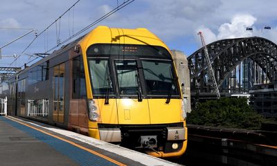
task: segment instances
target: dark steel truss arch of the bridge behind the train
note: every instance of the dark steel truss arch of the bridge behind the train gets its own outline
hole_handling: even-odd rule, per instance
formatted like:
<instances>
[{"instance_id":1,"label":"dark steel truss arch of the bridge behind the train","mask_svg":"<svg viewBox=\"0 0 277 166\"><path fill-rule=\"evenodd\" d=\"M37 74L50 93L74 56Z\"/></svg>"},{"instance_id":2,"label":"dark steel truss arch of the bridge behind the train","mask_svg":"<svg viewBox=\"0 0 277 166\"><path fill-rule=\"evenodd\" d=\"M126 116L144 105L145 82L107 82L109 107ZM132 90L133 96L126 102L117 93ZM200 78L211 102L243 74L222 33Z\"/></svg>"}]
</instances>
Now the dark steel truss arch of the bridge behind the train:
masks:
<instances>
[{"instance_id":1,"label":"dark steel truss arch of the bridge behind the train","mask_svg":"<svg viewBox=\"0 0 277 166\"><path fill-rule=\"evenodd\" d=\"M221 93L228 92L225 91L226 89L222 85L245 59L251 59L252 61L252 64L250 63L248 66L249 68L253 68L253 62L262 68L269 82L277 80L277 45L268 39L262 37L222 39L208 44L207 49L215 71L215 80L220 87ZM206 63L204 48L200 48L188 57L192 94L195 92L213 93L214 91L213 84L208 76L208 65ZM249 79L252 78L247 80ZM240 87L241 85L239 85L238 89ZM250 88L248 87L247 90Z\"/></svg>"}]
</instances>

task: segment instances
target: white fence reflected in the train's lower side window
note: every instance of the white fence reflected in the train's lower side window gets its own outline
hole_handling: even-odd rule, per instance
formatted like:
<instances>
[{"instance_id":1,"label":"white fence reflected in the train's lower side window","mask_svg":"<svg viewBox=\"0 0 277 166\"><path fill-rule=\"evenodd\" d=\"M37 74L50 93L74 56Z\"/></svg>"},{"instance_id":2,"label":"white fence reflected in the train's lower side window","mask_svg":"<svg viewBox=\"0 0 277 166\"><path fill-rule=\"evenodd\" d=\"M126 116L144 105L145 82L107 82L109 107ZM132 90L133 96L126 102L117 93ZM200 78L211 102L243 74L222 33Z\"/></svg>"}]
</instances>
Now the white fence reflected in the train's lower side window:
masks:
<instances>
[{"instance_id":1,"label":"white fence reflected in the train's lower side window","mask_svg":"<svg viewBox=\"0 0 277 166\"><path fill-rule=\"evenodd\" d=\"M48 100L28 100L28 116L48 116Z\"/></svg>"}]
</instances>

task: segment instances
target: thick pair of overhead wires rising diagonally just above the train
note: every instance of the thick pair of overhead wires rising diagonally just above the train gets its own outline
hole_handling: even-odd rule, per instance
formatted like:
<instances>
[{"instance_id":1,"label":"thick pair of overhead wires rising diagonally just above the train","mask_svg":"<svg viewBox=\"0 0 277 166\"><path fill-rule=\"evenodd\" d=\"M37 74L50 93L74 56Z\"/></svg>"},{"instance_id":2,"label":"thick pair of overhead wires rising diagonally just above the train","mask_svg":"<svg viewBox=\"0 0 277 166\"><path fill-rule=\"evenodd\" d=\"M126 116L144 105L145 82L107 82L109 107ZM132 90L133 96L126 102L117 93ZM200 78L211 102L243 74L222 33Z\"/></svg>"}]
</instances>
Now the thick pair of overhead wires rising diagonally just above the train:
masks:
<instances>
[{"instance_id":1,"label":"thick pair of overhead wires rising diagonally just above the train","mask_svg":"<svg viewBox=\"0 0 277 166\"><path fill-rule=\"evenodd\" d=\"M73 34L71 37L65 39L64 41L60 42L59 45L64 44L66 42L69 42L71 39L73 39L74 37L77 37L78 35L84 33L86 30L88 30L89 28L91 28L92 26L95 26L96 24L98 24L100 21L103 21L104 19L107 19L107 17L113 15L115 12L117 12L118 10L124 8L125 6L129 5L129 3L132 3L135 0L127 0L124 1L123 3L121 3L120 5L118 5L116 8L114 8L113 10L107 12L107 14L103 15L102 17L100 17L99 19L96 19L96 21L93 21L91 24L89 24L88 26L86 26L85 28L83 28L82 30L78 31L78 33ZM53 23L55 24L55 22ZM52 24L52 25L53 25ZM39 33L40 35L41 33ZM49 53L51 50L54 50L55 48L57 48L57 46L54 46L53 48L47 50L45 53ZM35 57L35 59L37 59L39 57ZM31 62L35 61L35 59L30 60L29 62L27 62L26 64L30 64ZM23 65L24 66L24 65ZM21 67L23 67L21 66Z\"/></svg>"}]
</instances>

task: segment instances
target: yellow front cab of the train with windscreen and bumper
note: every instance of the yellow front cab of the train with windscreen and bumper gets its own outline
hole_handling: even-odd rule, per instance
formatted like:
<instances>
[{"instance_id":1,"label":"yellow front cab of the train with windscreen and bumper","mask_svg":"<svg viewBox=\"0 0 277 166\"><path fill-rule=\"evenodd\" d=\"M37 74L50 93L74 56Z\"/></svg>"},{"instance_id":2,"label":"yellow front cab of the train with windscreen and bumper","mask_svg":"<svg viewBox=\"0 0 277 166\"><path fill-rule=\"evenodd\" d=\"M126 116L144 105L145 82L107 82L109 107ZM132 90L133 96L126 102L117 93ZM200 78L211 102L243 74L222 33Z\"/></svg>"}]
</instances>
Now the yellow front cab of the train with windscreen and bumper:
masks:
<instances>
[{"instance_id":1,"label":"yellow front cab of the train with windscreen and bumper","mask_svg":"<svg viewBox=\"0 0 277 166\"><path fill-rule=\"evenodd\" d=\"M89 136L152 156L186 150L186 112L172 57L148 30L98 27L79 43Z\"/></svg>"}]
</instances>

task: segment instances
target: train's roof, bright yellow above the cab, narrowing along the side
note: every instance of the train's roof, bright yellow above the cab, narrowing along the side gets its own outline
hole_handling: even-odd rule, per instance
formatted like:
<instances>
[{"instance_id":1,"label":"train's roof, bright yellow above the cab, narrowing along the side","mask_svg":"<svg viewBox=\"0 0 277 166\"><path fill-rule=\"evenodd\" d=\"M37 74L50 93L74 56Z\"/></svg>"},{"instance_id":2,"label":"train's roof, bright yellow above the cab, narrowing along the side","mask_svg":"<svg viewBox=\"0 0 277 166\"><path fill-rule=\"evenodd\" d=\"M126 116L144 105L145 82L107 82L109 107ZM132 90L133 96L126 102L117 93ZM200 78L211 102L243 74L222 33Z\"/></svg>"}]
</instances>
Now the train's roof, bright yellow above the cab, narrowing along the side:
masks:
<instances>
[{"instance_id":1,"label":"train's roof, bright yellow above the cab, narrowing along the side","mask_svg":"<svg viewBox=\"0 0 277 166\"><path fill-rule=\"evenodd\" d=\"M156 35L151 33L146 28L136 28L136 29L125 29L125 28L109 28L107 26L98 26L94 28L89 33L75 39L73 42L62 46L58 50L54 50L53 53L50 55L40 59L39 61L35 62L31 66L24 68L23 70L19 71L15 75L19 75L21 73L25 73L37 66L38 64L42 64L43 62L56 57L60 53L68 50L76 46L77 44L82 45L83 50L87 50L91 44L143 44L143 45L156 45L156 46L163 46L164 48L168 49L166 44L164 44L161 39L159 39ZM168 51L170 51L168 49ZM13 77L13 75L11 76Z\"/></svg>"}]
</instances>

